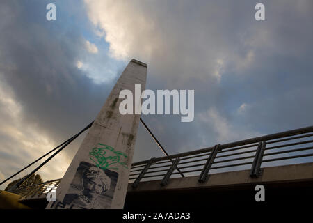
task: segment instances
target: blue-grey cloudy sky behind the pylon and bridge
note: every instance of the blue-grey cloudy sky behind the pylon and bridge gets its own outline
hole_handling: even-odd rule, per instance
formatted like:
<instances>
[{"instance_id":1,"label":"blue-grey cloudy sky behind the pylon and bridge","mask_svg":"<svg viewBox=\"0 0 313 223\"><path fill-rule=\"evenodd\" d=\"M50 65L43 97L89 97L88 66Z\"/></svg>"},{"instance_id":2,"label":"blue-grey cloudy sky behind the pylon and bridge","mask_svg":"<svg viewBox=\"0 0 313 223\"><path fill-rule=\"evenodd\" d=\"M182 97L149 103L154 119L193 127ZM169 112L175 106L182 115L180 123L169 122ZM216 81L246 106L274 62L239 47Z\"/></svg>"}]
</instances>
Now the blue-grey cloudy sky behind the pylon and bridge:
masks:
<instances>
[{"instance_id":1,"label":"blue-grey cloudy sky behind the pylon and bridge","mask_svg":"<svg viewBox=\"0 0 313 223\"><path fill-rule=\"evenodd\" d=\"M1 0L0 180L90 123L133 58L147 63L147 89L195 90L191 123L142 116L170 154L312 125L312 10L311 0ZM82 139L44 180L63 176ZM140 125L134 161L162 155Z\"/></svg>"}]
</instances>

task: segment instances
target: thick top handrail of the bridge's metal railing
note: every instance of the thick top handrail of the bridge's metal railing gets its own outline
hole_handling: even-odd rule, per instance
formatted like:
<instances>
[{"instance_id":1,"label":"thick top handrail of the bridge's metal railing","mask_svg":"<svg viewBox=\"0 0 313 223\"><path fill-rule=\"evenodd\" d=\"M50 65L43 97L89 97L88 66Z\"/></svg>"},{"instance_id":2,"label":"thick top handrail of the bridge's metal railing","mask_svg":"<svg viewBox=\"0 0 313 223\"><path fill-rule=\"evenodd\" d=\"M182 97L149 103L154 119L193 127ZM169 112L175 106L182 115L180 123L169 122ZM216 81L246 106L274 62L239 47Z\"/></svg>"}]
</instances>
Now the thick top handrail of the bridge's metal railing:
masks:
<instances>
[{"instance_id":1,"label":"thick top handrail of the bridge's metal railing","mask_svg":"<svg viewBox=\"0 0 313 223\"><path fill-rule=\"evenodd\" d=\"M313 132L313 126L308 126L305 128L298 128L296 130L289 130L289 131L285 131L285 132L279 132L279 133L275 133L275 134L267 134L265 136L262 137L255 137L255 138L251 138L251 139L245 139L245 140L241 140L241 141L234 141L232 143L229 144L223 144L220 145L220 149L223 150L225 148L233 148L236 146L243 146L243 145L247 145L247 144L255 144L259 141L268 141L271 139L278 139L278 138L282 138L282 137L291 137L297 134L305 134L308 132ZM177 158L177 157L186 157L188 155L196 155L196 154L200 154L200 153L206 153L209 151L212 151L214 148L214 146L208 147L208 148L202 148L199 150L195 150L195 151L189 151L189 152L185 152L185 153L178 153L175 155L169 155L169 156L165 156L165 157L158 157L155 159L156 162L161 161L161 160L169 160L169 159L173 159L173 158ZM149 160L143 160L141 162L135 162L133 164L131 164L132 166L136 166L136 165L140 165L140 164L145 164L149 162Z\"/></svg>"}]
</instances>

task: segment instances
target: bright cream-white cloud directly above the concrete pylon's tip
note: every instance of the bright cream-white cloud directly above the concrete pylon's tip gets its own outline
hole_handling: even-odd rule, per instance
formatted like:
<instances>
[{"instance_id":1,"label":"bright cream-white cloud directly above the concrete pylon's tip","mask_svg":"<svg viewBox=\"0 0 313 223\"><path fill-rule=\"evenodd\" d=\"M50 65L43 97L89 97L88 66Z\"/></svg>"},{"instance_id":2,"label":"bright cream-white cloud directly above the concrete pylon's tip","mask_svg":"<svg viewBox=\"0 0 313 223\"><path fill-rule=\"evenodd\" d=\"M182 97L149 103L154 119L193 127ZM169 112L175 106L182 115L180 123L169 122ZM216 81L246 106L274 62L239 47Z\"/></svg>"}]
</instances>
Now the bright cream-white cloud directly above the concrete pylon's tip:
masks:
<instances>
[{"instance_id":1,"label":"bright cream-white cloud directly above the concrete pylon's tip","mask_svg":"<svg viewBox=\"0 0 313 223\"><path fill-rule=\"evenodd\" d=\"M100 29L97 33L105 31L105 40L116 59L128 59L134 50L147 56L159 47L154 22L135 2L86 0L85 3L90 20Z\"/></svg>"}]
</instances>

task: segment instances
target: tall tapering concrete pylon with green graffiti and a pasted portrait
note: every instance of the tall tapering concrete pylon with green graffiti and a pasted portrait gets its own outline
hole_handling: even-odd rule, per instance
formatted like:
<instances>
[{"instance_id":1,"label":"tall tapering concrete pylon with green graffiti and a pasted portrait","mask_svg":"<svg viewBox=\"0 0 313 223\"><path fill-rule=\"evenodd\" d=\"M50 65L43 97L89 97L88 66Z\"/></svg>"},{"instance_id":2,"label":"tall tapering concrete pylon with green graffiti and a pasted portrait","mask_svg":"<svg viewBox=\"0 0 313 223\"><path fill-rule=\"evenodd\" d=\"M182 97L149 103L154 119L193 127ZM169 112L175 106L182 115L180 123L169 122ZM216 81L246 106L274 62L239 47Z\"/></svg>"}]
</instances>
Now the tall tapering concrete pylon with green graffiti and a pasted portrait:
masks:
<instances>
[{"instance_id":1,"label":"tall tapering concrete pylon with green graffiti and a pasted portrait","mask_svg":"<svg viewBox=\"0 0 313 223\"><path fill-rule=\"evenodd\" d=\"M145 89L147 65L131 60L115 84L47 208L123 208L140 114L120 114L120 91ZM140 92L141 93L141 92ZM86 108L88 109L88 108Z\"/></svg>"}]
</instances>

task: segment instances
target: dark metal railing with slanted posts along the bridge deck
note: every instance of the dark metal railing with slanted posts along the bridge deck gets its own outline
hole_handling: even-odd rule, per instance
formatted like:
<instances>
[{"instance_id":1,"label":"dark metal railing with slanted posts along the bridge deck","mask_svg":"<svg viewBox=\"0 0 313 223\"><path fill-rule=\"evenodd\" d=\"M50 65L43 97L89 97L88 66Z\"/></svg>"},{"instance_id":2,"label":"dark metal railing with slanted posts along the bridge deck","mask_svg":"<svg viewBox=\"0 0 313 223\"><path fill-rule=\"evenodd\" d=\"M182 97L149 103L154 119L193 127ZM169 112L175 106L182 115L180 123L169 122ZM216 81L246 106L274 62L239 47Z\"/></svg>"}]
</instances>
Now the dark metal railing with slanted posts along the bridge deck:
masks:
<instances>
[{"instance_id":1,"label":"dark metal railing with slanted posts along the bridge deck","mask_svg":"<svg viewBox=\"0 0 313 223\"><path fill-rule=\"evenodd\" d=\"M250 169L250 176L258 177L262 167L302 162L313 162L313 126L135 162L129 183L137 187L143 180L162 179L166 185L169 178L179 177L177 168L186 176L199 175L199 182L212 173L239 169Z\"/></svg>"}]
</instances>

